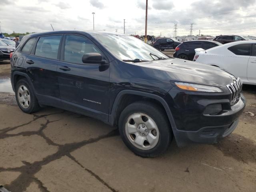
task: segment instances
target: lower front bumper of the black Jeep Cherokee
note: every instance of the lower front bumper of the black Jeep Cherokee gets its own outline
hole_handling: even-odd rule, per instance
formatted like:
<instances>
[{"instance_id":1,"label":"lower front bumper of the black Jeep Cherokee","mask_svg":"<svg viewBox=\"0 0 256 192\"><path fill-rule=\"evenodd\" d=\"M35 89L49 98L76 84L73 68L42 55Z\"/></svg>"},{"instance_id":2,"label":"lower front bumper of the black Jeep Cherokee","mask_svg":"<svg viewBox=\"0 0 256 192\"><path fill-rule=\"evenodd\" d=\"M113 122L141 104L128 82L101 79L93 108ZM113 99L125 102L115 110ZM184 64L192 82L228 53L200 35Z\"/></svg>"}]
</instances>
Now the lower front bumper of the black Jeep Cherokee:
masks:
<instances>
[{"instance_id":1,"label":"lower front bumper of the black Jeep Cherokee","mask_svg":"<svg viewBox=\"0 0 256 192\"><path fill-rule=\"evenodd\" d=\"M213 100L210 99L207 100L208 103L206 105L211 104L212 101ZM223 101L224 100L219 100L219 102ZM214 103L216 102L218 102L218 100L214 100ZM217 142L220 138L228 136L237 127L239 117L245 106L246 99L243 94L240 94L238 102L230 106L229 110L224 110L221 114L205 115L201 113L199 115L199 113L196 113L195 115L186 113L186 117L182 116L183 124L179 123L178 118L174 117L176 125L180 125L172 127L178 146L186 146L191 142L212 144ZM195 106L195 108L200 107Z\"/></svg>"}]
</instances>

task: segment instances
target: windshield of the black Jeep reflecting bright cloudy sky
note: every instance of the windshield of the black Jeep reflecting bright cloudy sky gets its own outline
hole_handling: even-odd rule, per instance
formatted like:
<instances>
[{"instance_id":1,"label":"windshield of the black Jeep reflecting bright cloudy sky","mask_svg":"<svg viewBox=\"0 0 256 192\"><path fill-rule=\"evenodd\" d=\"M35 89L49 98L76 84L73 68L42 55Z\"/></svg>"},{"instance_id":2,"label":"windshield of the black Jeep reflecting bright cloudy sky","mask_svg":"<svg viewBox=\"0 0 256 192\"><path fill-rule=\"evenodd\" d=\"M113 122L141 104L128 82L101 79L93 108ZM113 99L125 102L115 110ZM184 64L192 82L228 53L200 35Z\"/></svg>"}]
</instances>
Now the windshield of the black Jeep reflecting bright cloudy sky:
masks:
<instances>
[{"instance_id":1,"label":"windshield of the black Jeep reflecting bright cloudy sky","mask_svg":"<svg viewBox=\"0 0 256 192\"><path fill-rule=\"evenodd\" d=\"M149 61L159 58L168 58L165 54L133 36L97 34L94 35L94 38L120 60L139 59Z\"/></svg>"}]
</instances>

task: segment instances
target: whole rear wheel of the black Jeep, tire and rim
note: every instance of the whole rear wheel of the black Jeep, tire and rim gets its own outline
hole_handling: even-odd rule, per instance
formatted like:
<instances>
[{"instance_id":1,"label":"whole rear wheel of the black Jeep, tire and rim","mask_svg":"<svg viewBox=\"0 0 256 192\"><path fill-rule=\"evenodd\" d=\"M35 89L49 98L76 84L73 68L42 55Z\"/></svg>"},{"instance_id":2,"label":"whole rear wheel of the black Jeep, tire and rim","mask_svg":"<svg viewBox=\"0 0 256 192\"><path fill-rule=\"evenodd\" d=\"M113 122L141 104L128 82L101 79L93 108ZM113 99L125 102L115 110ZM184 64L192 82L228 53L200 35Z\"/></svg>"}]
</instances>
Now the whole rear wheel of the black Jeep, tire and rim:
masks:
<instances>
[{"instance_id":1,"label":"whole rear wheel of the black Jeep, tire and rim","mask_svg":"<svg viewBox=\"0 0 256 192\"><path fill-rule=\"evenodd\" d=\"M15 86L16 101L25 113L36 112L40 109L36 96L25 79L21 79Z\"/></svg>"}]
</instances>

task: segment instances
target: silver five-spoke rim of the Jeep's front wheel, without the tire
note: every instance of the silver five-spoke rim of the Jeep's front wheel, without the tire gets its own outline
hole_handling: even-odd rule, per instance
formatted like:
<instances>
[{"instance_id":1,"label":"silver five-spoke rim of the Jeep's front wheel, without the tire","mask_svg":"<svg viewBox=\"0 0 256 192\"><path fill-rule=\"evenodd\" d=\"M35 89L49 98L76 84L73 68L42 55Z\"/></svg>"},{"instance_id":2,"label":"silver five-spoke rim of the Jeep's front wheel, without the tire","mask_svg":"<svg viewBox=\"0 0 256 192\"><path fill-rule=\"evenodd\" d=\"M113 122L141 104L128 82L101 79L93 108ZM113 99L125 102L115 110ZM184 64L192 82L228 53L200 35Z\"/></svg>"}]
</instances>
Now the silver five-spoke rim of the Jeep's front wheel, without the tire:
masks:
<instances>
[{"instance_id":1,"label":"silver five-spoke rim of the Jeep's front wheel, without the tire","mask_svg":"<svg viewBox=\"0 0 256 192\"><path fill-rule=\"evenodd\" d=\"M159 141L156 122L144 113L134 113L127 118L125 133L128 140L142 150L154 148Z\"/></svg>"}]
</instances>

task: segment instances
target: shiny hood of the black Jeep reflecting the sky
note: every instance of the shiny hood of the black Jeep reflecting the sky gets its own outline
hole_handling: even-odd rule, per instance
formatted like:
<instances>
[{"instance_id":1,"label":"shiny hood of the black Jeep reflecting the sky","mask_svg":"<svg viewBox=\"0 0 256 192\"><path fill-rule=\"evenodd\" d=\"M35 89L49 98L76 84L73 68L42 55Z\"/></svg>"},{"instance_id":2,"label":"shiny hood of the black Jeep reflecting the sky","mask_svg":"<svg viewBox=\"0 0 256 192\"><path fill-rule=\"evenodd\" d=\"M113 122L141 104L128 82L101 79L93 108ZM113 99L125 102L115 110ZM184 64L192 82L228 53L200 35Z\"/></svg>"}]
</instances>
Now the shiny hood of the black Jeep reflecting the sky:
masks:
<instances>
[{"instance_id":1,"label":"shiny hood of the black Jeep reflecting the sky","mask_svg":"<svg viewBox=\"0 0 256 192\"><path fill-rule=\"evenodd\" d=\"M178 58L136 63L136 65L160 70L168 80L226 87L234 76L221 68ZM166 79L167 80L167 79Z\"/></svg>"}]
</instances>

